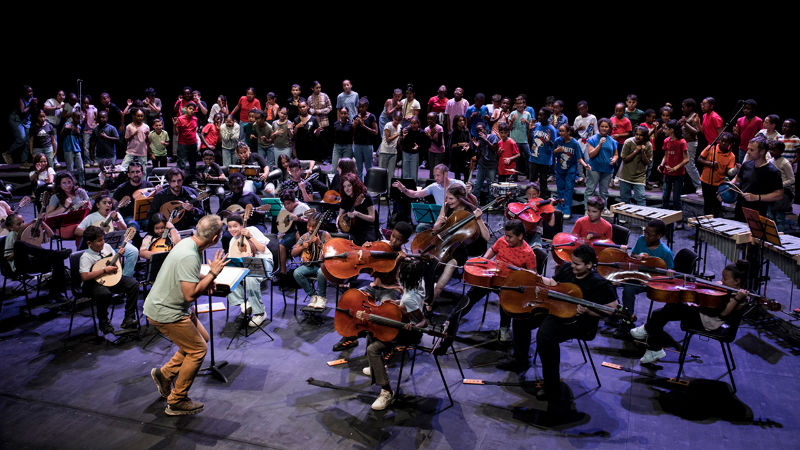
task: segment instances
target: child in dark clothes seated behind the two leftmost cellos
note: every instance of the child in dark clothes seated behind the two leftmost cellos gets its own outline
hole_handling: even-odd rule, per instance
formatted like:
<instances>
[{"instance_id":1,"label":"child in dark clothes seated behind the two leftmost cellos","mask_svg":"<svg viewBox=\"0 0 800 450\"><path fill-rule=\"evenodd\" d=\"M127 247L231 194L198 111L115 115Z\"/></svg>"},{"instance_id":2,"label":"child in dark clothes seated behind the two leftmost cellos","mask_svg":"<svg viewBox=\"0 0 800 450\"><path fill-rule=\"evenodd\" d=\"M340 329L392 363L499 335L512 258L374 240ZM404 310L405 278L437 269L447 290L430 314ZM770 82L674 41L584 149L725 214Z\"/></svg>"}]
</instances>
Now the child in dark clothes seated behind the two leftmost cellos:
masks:
<instances>
[{"instance_id":1,"label":"child in dark clothes seated behind the two leftmost cellos","mask_svg":"<svg viewBox=\"0 0 800 450\"><path fill-rule=\"evenodd\" d=\"M341 160L340 160L341 161ZM411 235L414 233L411 224L408 222L397 222L389 236L389 246L392 251L398 252L397 259L395 260L394 269L390 272L373 272L373 281L366 287L361 288L361 291L374 298L375 301L382 302L384 300L397 300L403 294L403 288L400 286L400 266L405 258L403 246L408 243ZM424 289L423 289L424 293ZM423 295L423 300L425 296ZM358 345L358 336L343 336L334 346L333 351L340 352L348 348L353 348Z\"/></svg>"}]
</instances>

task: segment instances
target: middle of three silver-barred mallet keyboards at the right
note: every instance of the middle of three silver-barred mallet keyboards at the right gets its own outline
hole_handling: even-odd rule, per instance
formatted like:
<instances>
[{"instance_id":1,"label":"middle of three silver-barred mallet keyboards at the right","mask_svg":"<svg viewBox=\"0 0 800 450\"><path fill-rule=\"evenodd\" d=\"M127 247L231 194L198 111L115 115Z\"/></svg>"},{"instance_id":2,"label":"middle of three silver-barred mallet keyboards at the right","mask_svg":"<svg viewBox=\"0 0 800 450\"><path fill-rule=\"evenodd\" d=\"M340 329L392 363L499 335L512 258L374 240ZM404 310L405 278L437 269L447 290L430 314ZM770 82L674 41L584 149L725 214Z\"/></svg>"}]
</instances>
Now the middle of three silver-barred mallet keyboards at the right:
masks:
<instances>
[{"instance_id":1,"label":"middle of three silver-barred mallet keyboards at the right","mask_svg":"<svg viewBox=\"0 0 800 450\"><path fill-rule=\"evenodd\" d=\"M750 243L750 227L744 222L737 222L719 217L697 216L688 220L690 228L696 228L695 252L698 252L700 241L705 243L703 255L703 271L708 261L708 245L720 251L731 262L739 260L742 249Z\"/></svg>"}]
</instances>

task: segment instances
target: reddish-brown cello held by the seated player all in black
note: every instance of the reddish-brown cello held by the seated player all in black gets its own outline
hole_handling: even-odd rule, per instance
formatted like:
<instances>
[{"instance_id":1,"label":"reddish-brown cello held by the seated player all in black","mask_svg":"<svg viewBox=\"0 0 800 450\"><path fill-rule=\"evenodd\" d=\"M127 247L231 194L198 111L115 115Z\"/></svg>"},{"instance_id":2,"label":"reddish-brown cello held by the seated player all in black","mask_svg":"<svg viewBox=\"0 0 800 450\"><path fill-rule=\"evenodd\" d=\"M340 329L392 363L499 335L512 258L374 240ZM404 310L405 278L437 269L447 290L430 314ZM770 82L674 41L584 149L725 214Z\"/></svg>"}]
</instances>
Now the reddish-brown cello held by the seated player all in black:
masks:
<instances>
[{"instance_id":1,"label":"reddish-brown cello held by the seated player all in black","mask_svg":"<svg viewBox=\"0 0 800 450\"><path fill-rule=\"evenodd\" d=\"M500 306L511 315L524 315L536 309L544 309L548 314L561 319L569 319L578 314L578 306L585 306L609 315L618 315L623 320L633 322L635 317L621 306L614 308L584 300L581 288L573 283L558 283L550 286L541 276L527 271L513 272L500 287Z\"/></svg>"}]
</instances>

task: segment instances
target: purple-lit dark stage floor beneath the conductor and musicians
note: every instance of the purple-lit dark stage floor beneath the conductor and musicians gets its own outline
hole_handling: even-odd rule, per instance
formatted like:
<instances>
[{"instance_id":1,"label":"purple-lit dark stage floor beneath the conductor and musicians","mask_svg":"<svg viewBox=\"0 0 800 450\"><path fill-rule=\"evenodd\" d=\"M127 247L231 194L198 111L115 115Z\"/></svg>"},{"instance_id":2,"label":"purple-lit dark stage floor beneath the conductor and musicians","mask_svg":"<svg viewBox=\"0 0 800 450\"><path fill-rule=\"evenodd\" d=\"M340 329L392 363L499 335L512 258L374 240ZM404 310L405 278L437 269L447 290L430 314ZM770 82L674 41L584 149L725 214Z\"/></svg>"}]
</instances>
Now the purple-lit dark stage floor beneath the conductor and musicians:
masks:
<instances>
[{"instance_id":1,"label":"purple-lit dark stage floor beneath the conductor and musicians","mask_svg":"<svg viewBox=\"0 0 800 450\"><path fill-rule=\"evenodd\" d=\"M381 209L385 214L385 205ZM501 221L496 214L490 218L493 228ZM691 247L693 236L691 230L677 231L674 250ZM719 274L723 257L713 249L709 255L709 270ZM548 266L549 275L552 261ZM786 308L793 288L774 266L771 274L768 296ZM362 281L367 277L362 276ZM453 298L460 296L460 283L451 282L448 291ZM264 296L267 302L269 292ZM301 292L301 302L302 297ZM328 298L330 306L333 288ZM43 295L39 303L46 302ZM744 323L732 344L736 394L730 392L715 341L693 338L689 353L697 357L687 359L690 384L684 387L660 378L676 375L677 352L669 352L665 361L651 369L644 368L638 361L644 347L601 332L590 342L600 388L577 342L568 341L561 346L562 387L586 418L544 429L532 420L546 408L532 386L464 385L452 355L440 361L454 406L449 407L433 357L417 354L413 376L408 364L403 371L398 400L386 411L372 411L370 404L378 389L361 373L367 365L364 340L354 349L332 352L340 337L333 329L332 311L328 309L317 326L302 322L300 311L297 317L293 315L293 295L287 302L284 310L283 297L275 288L274 320L265 322L274 342L256 332L234 340L229 350L226 346L235 332L238 308L227 322L224 311L213 314L215 357L217 363L228 362L221 369L228 383L199 376L190 394L205 402L205 410L176 418L164 414L165 402L149 375L175 347L160 337L145 347L152 328L145 329L139 340L113 344L93 336L91 318L84 309L76 315L73 336L67 339L68 313L39 306L29 317L22 310L24 298L6 299L0 312L0 354L5 362L0 374L6 380L0 387L0 442L4 448L59 449L797 447L793 442L800 415L794 401L800 398L796 383L800 360L792 351L798 349L783 347L761 326ZM641 294L637 316L646 317L648 306ZM436 312L445 315L450 308L452 302L443 302ZM482 308L479 303L466 316L456 340L465 376L520 381L515 374L494 367L510 352L494 341L497 297L490 297L483 324ZM201 320L208 328L207 316L201 315ZM793 319L785 313L775 313L775 317ZM120 321L118 306L113 323L118 326ZM675 338L683 337L677 324L667 330ZM339 358L348 363L326 364ZM209 359L210 355L204 366ZM399 359L392 361L389 375L394 385ZM604 361L644 374L601 367ZM535 381L540 375L537 365L524 380Z\"/></svg>"}]
</instances>

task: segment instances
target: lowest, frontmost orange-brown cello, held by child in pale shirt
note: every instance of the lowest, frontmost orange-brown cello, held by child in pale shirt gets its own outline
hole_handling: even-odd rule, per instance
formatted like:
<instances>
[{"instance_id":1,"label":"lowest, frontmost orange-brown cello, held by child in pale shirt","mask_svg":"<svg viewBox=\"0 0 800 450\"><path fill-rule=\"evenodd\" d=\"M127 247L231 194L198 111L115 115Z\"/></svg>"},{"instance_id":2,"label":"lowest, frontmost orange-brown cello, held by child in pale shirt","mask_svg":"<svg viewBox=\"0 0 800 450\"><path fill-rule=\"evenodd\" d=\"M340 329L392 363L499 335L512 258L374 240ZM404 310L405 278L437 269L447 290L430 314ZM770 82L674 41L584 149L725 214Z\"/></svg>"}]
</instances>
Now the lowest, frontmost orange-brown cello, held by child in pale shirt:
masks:
<instances>
[{"instance_id":1,"label":"lowest, frontmost orange-brown cello, held by child in pale shirt","mask_svg":"<svg viewBox=\"0 0 800 450\"><path fill-rule=\"evenodd\" d=\"M415 327L402 322L403 313L397 304L386 301L377 304L375 299L358 289L345 291L336 306L333 325L342 336L357 336L362 331L369 331L379 341L390 342L397 337L401 329L410 329L437 337L445 337L427 328Z\"/></svg>"}]
</instances>

